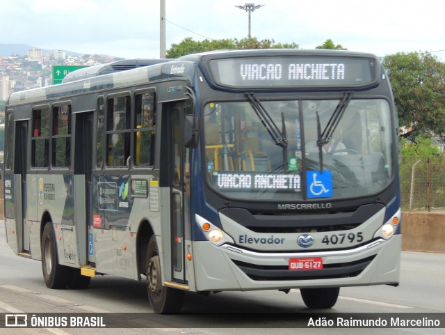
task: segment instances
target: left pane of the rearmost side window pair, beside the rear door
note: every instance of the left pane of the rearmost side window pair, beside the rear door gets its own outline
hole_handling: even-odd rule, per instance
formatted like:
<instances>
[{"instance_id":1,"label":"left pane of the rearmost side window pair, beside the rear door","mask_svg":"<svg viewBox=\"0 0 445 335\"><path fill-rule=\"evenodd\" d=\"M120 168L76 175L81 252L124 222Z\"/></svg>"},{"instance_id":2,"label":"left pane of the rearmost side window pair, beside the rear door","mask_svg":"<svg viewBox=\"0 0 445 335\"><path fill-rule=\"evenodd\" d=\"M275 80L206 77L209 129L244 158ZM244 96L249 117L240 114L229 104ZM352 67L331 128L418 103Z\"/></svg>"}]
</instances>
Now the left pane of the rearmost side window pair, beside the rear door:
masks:
<instances>
[{"instance_id":1,"label":"left pane of the rearmost side window pair, beside the rear door","mask_svg":"<svg viewBox=\"0 0 445 335\"><path fill-rule=\"evenodd\" d=\"M49 165L49 107L33 110L32 166Z\"/></svg>"}]
</instances>

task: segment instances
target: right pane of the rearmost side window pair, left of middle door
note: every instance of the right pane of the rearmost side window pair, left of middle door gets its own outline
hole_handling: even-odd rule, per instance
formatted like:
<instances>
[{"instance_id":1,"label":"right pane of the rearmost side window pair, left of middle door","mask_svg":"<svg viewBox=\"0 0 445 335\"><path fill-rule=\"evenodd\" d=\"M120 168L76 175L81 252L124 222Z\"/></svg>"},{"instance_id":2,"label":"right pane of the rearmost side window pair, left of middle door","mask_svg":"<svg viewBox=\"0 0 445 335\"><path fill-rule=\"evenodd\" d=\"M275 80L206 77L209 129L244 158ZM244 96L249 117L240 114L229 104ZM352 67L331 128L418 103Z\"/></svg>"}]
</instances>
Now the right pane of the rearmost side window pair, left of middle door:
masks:
<instances>
[{"instance_id":1,"label":"right pane of the rearmost side window pair, left of middle door","mask_svg":"<svg viewBox=\"0 0 445 335\"><path fill-rule=\"evenodd\" d=\"M70 167L71 106L53 107L52 159L55 167Z\"/></svg>"}]
</instances>

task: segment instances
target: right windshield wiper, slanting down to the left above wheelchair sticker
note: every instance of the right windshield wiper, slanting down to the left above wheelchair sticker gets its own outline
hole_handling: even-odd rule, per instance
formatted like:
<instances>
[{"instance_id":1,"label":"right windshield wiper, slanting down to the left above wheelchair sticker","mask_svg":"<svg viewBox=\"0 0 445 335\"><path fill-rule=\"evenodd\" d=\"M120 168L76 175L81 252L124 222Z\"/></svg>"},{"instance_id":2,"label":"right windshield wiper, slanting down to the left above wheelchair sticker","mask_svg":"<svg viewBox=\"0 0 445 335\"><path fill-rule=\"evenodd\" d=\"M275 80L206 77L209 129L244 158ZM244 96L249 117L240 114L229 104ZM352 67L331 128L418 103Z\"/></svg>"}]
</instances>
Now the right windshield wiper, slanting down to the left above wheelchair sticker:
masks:
<instances>
[{"instance_id":1,"label":"right windshield wiper, slanting down to the left above wheelchair sticker","mask_svg":"<svg viewBox=\"0 0 445 335\"><path fill-rule=\"evenodd\" d=\"M346 111L346 107L348 107L351 98L353 98L353 92L343 93L343 98L341 98L339 104L337 104L337 107L332 113L329 121L327 121L326 127L323 130L323 132L321 132L320 116L318 115L318 111L316 112L317 146L318 146L318 160L320 162L320 173L323 171L323 146L327 143L330 143L330 141L332 140L332 135L334 134L337 125L339 125L339 122L343 117L343 114Z\"/></svg>"}]
</instances>

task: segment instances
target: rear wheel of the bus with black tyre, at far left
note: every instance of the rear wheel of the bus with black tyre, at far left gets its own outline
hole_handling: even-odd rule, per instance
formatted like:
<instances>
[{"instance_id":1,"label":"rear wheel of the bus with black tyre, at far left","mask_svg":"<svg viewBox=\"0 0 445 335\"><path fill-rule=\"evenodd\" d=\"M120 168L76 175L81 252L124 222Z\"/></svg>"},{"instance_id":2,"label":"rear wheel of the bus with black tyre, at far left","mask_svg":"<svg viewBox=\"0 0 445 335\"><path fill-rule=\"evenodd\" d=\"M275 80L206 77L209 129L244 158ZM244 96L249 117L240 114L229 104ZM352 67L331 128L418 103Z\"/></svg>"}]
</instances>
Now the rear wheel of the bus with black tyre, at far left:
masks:
<instances>
[{"instance_id":1,"label":"rear wheel of the bus with black tyre, at far left","mask_svg":"<svg viewBox=\"0 0 445 335\"><path fill-rule=\"evenodd\" d=\"M40 247L43 279L47 288L66 288L70 267L58 264L56 234L51 222L44 226Z\"/></svg>"}]
</instances>

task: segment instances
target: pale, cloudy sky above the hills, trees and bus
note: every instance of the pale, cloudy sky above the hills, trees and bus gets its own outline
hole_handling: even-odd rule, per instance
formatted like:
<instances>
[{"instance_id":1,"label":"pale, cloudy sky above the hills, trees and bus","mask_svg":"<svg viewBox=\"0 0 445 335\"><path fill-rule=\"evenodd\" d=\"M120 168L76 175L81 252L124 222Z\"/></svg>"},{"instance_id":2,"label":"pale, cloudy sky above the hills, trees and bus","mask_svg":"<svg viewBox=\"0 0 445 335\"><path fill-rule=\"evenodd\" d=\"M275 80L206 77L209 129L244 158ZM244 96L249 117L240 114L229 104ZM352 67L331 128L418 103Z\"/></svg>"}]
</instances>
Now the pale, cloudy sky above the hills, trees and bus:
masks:
<instances>
[{"instance_id":1,"label":"pale, cloudy sky above the hills, trees and bus","mask_svg":"<svg viewBox=\"0 0 445 335\"><path fill-rule=\"evenodd\" d=\"M166 49L184 38L245 38L246 1L165 0ZM247 3L253 3L248 1ZM251 34L314 49L331 39L386 56L430 52L445 62L442 1L258 0ZM0 43L126 59L159 59L160 0L6 0Z\"/></svg>"}]
</instances>

